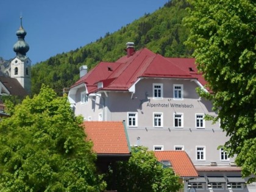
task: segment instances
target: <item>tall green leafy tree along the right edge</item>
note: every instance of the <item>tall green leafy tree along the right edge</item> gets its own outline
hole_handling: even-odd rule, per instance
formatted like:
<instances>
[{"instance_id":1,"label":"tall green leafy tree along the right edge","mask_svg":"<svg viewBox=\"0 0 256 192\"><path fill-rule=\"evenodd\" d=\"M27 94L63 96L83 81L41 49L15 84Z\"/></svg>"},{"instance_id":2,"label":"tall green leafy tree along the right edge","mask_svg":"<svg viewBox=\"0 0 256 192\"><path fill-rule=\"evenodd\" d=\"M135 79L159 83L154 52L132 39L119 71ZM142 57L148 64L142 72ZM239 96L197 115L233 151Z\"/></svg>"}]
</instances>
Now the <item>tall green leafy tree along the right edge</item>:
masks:
<instances>
[{"instance_id":1,"label":"tall green leafy tree along the right edge","mask_svg":"<svg viewBox=\"0 0 256 192\"><path fill-rule=\"evenodd\" d=\"M244 177L256 175L256 2L191 0L185 23L198 68L213 94L224 144ZM251 179L251 182L255 177Z\"/></svg>"}]
</instances>

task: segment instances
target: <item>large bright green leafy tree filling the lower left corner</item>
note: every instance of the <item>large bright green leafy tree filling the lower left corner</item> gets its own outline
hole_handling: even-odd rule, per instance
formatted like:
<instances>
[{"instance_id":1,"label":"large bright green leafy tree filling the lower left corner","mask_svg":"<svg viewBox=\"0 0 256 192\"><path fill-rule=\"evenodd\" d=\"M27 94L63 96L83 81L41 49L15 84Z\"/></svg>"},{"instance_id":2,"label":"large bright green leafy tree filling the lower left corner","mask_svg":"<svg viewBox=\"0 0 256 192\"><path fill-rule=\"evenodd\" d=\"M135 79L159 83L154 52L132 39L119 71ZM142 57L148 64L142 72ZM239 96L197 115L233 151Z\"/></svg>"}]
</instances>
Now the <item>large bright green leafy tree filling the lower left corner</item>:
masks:
<instances>
[{"instance_id":1,"label":"large bright green leafy tree filling the lower left corner","mask_svg":"<svg viewBox=\"0 0 256 192\"><path fill-rule=\"evenodd\" d=\"M0 123L0 191L102 191L82 118L42 86Z\"/></svg>"}]
</instances>

